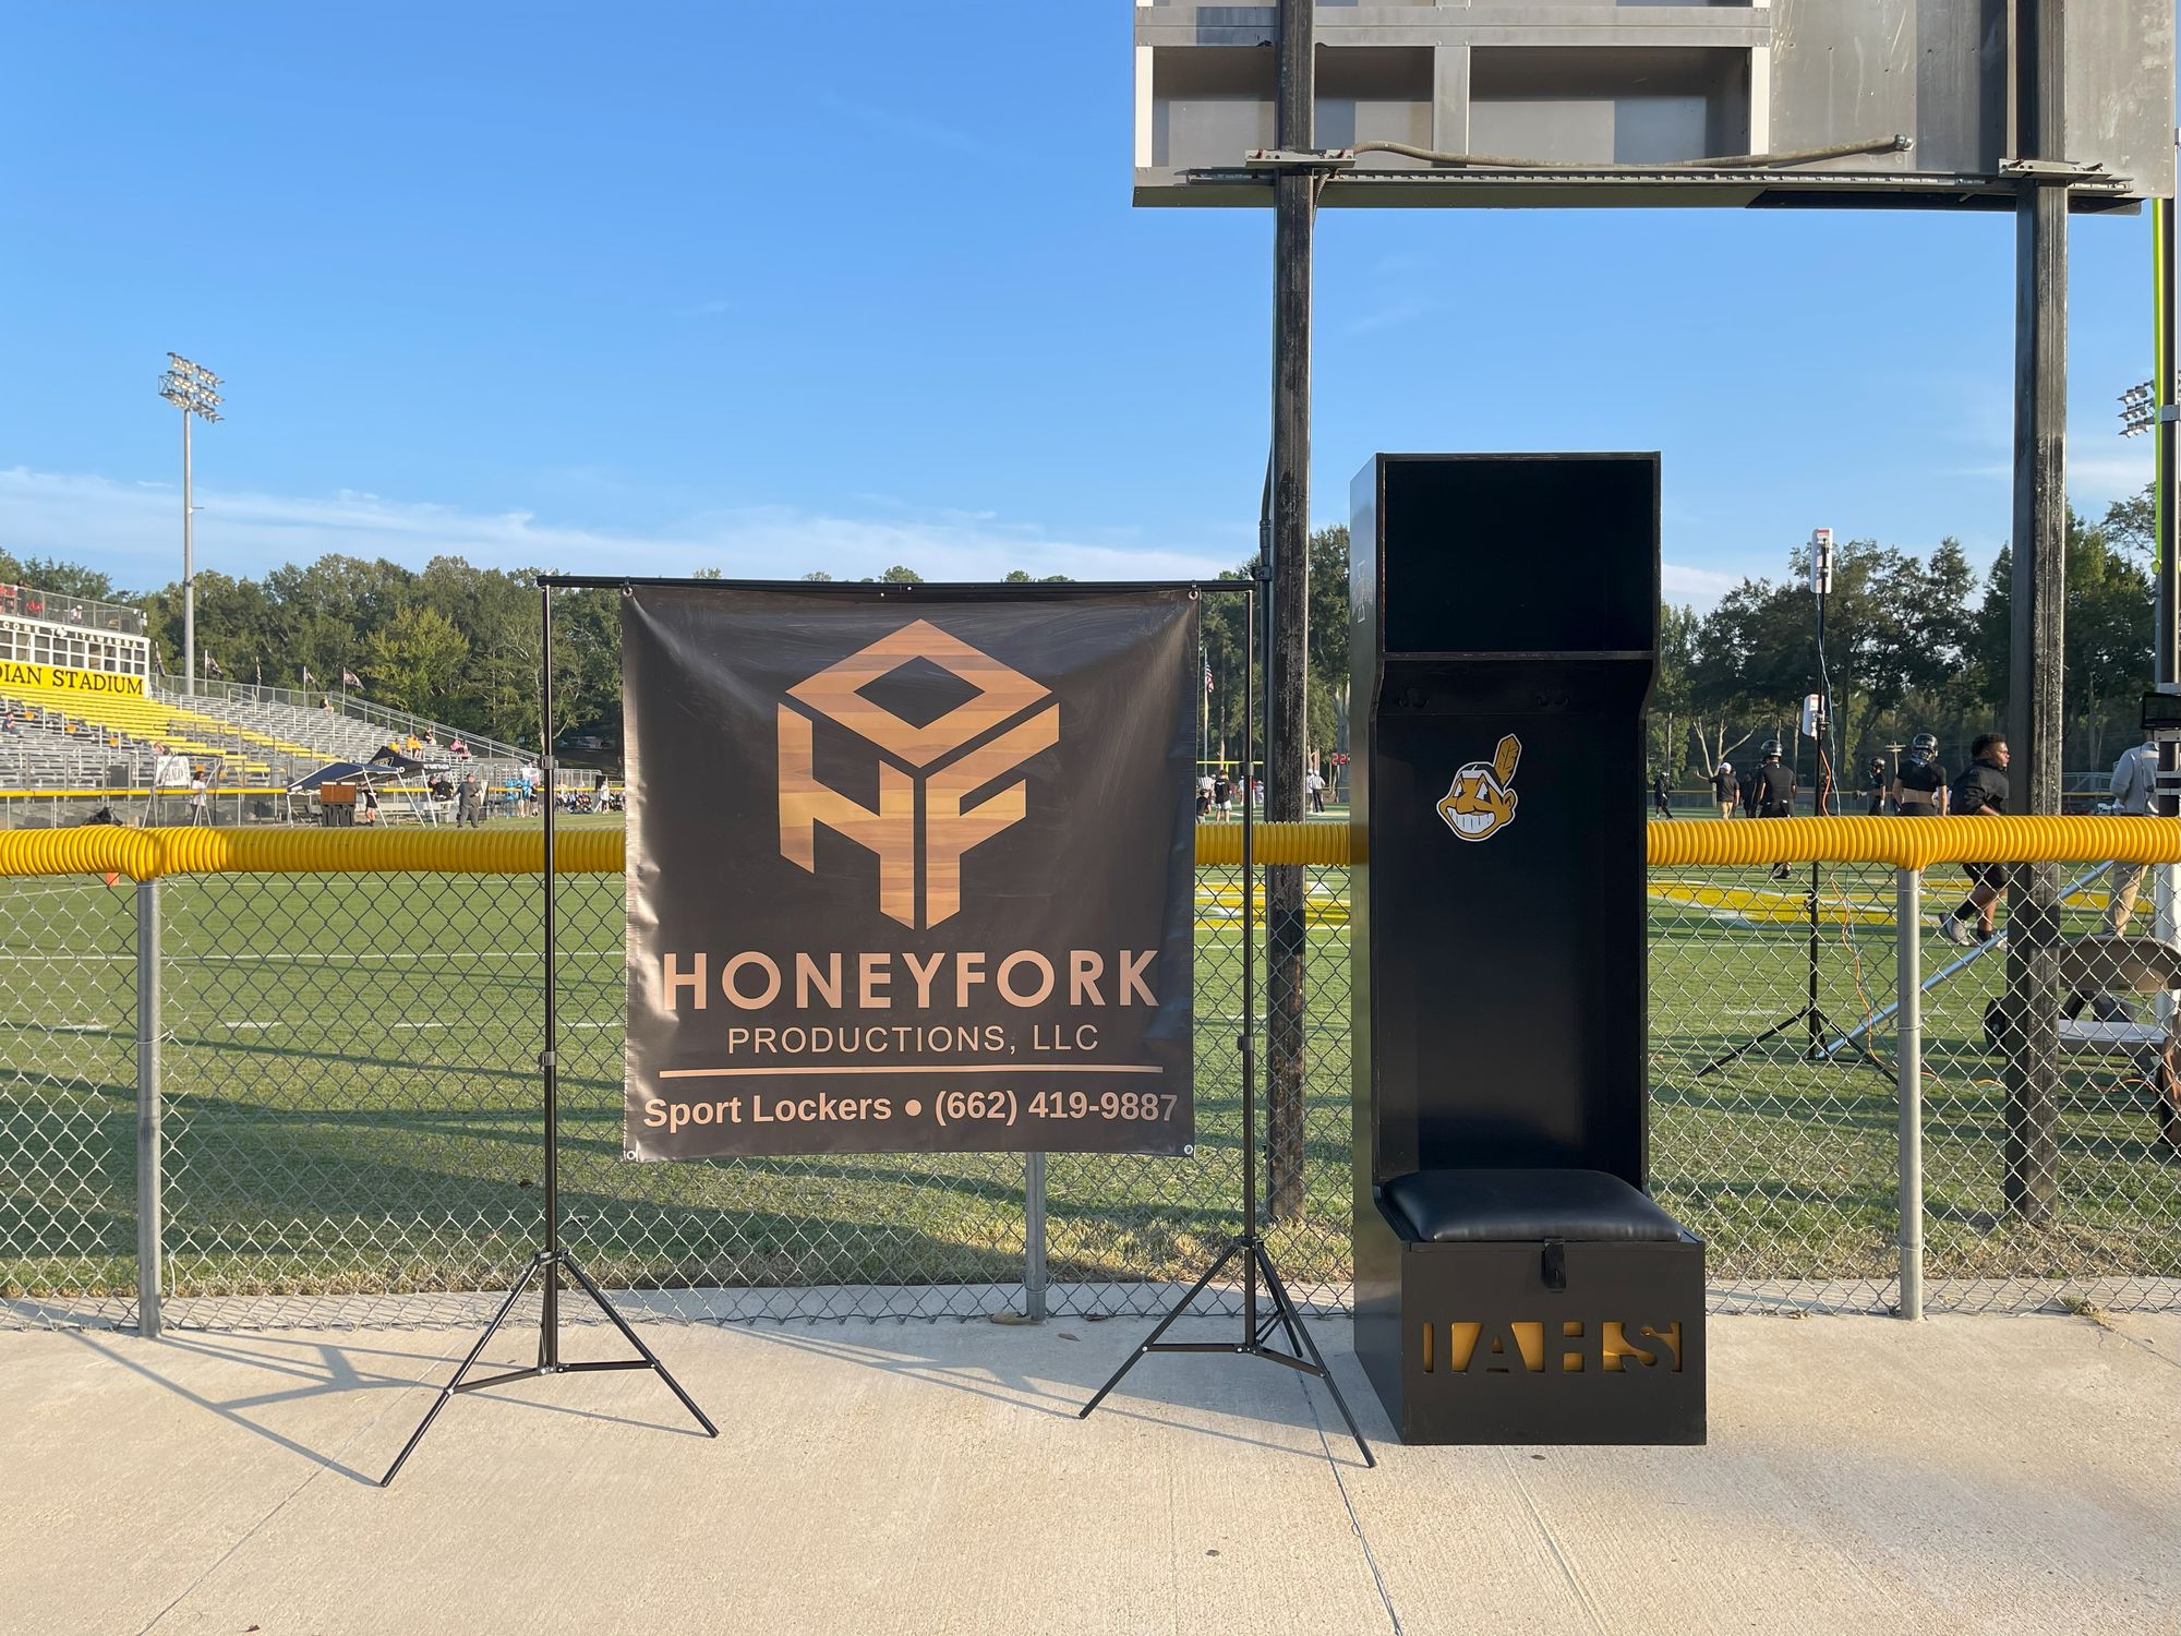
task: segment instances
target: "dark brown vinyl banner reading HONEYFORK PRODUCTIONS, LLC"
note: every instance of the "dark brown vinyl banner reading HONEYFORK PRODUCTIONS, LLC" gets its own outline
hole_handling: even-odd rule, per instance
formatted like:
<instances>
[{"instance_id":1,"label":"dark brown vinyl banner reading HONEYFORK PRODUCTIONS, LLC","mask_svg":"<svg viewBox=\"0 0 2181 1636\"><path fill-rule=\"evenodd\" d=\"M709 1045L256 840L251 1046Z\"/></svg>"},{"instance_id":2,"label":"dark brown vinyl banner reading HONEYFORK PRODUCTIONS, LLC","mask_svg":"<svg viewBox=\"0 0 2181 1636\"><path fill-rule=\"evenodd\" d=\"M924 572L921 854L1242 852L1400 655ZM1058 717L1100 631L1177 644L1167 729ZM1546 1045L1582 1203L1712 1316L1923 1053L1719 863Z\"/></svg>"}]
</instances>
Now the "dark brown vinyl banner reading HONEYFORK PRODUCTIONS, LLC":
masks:
<instances>
[{"instance_id":1,"label":"dark brown vinyl banner reading HONEYFORK PRODUCTIONS, LLC","mask_svg":"<svg viewBox=\"0 0 2181 1636\"><path fill-rule=\"evenodd\" d=\"M1186 587L630 587L630 1158L1186 1154Z\"/></svg>"}]
</instances>

